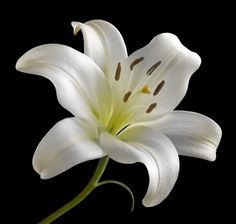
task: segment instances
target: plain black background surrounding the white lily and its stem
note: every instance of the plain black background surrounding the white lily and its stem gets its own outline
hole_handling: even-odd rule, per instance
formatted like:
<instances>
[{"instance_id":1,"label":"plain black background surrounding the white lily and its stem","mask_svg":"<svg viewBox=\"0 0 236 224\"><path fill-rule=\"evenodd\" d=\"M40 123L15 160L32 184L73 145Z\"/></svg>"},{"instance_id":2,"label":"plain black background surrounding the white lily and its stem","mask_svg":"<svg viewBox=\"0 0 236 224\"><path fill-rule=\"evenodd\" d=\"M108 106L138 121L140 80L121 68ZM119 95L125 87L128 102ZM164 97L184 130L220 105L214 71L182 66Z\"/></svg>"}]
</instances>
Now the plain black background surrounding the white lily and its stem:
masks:
<instances>
[{"instance_id":1,"label":"plain black background surrounding the white lily and its stem","mask_svg":"<svg viewBox=\"0 0 236 224\"><path fill-rule=\"evenodd\" d=\"M59 4L59 3L58 3ZM92 3L91 3L92 4ZM128 193L115 185L96 189L84 202L55 223L155 222L182 223L224 220L233 217L234 146L230 144L229 124L233 127L234 95L231 86L234 67L230 63L232 37L230 13L221 5L195 8L186 5L180 11L175 6L148 4L146 7L118 8L118 3L104 6L103 11L78 4L76 11L38 8L37 4L20 6L2 20L1 90L2 123L2 187L6 223L37 223L71 200L89 181L97 161L80 164L50 180L41 180L31 161L37 144L59 120L71 116L57 102L53 85L46 79L15 71L17 59L32 47L46 43L61 43L83 51L81 34L74 36L71 21L85 22L104 19L114 24L126 42L128 53L146 45L162 32L176 34L189 49L202 58L200 69L191 78L186 97L177 109L195 111L214 119L223 130L217 160L208 162L180 157L180 173L169 197L160 205L145 208L142 198L148 186L148 174L141 164L123 165L111 161L103 176L126 183L133 191L136 205L131 213ZM63 5L61 5L63 6ZM86 8L87 7L87 8ZM180 7L181 8L181 7ZM38 9L38 13L34 12ZM106 10L107 9L107 10ZM194 10L195 9L195 10ZM91 11L92 10L92 11ZM112 11L114 10L114 12ZM50 11L46 14L46 11ZM224 16L223 16L224 14ZM233 112L232 112L233 114ZM230 121L230 119L232 119ZM144 221L142 221L144 220Z\"/></svg>"}]
</instances>

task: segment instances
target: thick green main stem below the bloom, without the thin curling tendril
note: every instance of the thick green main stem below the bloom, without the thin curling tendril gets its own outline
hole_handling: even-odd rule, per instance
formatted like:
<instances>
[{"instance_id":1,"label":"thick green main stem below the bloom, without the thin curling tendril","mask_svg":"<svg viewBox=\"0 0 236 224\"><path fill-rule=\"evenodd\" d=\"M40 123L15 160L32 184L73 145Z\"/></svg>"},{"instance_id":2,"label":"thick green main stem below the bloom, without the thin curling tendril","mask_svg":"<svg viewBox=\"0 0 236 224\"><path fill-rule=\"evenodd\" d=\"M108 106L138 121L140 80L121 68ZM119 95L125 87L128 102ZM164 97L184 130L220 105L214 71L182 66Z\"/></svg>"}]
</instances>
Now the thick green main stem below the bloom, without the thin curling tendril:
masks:
<instances>
[{"instance_id":1,"label":"thick green main stem below the bloom, without the thin curling tendril","mask_svg":"<svg viewBox=\"0 0 236 224\"><path fill-rule=\"evenodd\" d=\"M47 218L42 220L39 224L48 224L53 222L54 220L62 216L64 213L66 213L67 211L78 205L81 201L83 201L98 186L98 181L100 180L103 172L105 171L108 161L109 161L108 156L105 156L102 159L100 159L91 180L89 181L87 186L80 192L80 194L78 194L74 199L65 204L63 207L53 212Z\"/></svg>"}]
</instances>

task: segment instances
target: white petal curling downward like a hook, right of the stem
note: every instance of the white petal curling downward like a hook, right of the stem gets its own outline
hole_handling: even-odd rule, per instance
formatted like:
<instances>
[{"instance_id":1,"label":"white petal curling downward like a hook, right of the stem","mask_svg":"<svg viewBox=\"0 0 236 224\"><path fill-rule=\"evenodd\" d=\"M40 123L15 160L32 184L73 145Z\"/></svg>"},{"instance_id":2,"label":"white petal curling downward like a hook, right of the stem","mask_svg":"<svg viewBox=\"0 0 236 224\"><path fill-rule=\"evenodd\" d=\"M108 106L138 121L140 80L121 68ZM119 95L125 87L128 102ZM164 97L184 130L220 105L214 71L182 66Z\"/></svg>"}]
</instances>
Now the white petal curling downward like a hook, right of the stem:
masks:
<instances>
[{"instance_id":1,"label":"white petal curling downward like a hook, right of the stem","mask_svg":"<svg viewBox=\"0 0 236 224\"><path fill-rule=\"evenodd\" d=\"M179 158L172 142L149 127L130 127L116 138L107 132L100 136L101 148L120 163L143 163L149 173L149 186L143 204L154 206L172 190L179 172Z\"/></svg>"}]
</instances>

